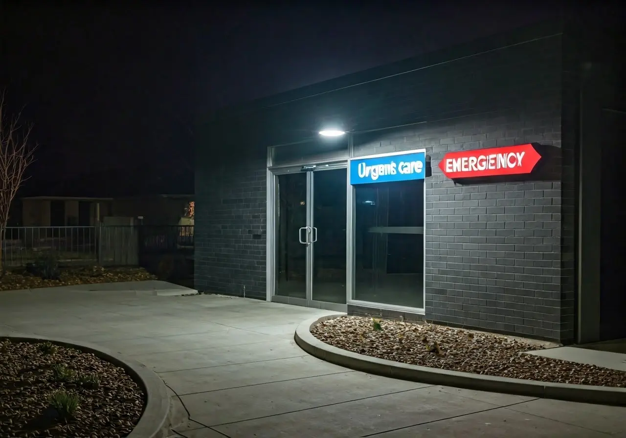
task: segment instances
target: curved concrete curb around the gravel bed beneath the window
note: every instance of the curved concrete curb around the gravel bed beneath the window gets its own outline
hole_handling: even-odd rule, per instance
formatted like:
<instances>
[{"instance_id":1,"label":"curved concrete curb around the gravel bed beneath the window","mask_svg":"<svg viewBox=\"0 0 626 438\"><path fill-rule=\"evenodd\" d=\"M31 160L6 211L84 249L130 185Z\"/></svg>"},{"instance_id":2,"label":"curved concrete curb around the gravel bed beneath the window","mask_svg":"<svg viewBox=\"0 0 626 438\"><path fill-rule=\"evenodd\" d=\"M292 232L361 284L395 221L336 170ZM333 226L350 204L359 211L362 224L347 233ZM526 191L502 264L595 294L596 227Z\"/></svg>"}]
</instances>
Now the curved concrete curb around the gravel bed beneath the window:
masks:
<instances>
[{"instance_id":1,"label":"curved concrete curb around the gravel bed beneath the window","mask_svg":"<svg viewBox=\"0 0 626 438\"><path fill-rule=\"evenodd\" d=\"M310 333L310 329L317 323L341 316L344 314L312 318L300 323L295 329L295 343L308 354L332 364L394 379L542 399L626 406L625 388L536 382L535 380L510 379L403 364L339 349L322 342Z\"/></svg>"}]
</instances>

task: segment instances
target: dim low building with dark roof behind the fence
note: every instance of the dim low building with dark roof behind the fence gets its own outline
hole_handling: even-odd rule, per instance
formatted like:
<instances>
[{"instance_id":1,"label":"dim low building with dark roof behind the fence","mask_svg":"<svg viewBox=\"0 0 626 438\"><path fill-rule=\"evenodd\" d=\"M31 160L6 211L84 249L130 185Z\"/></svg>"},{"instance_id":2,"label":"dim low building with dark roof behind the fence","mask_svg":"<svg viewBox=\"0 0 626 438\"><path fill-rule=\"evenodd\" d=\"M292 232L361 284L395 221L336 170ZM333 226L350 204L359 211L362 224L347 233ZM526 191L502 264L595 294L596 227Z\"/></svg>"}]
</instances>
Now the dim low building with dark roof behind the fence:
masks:
<instances>
[{"instance_id":1,"label":"dim low building with dark roof behind the fence","mask_svg":"<svg viewBox=\"0 0 626 438\"><path fill-rule=\"evenodd\" d=\"M152 173L158 176L149 178L145 166L138 166L27 185L15 203L21 208L19 225L88 227L107 216L135 218L144 225L178 225L193 202L193 173L181 165Z\"/></svg>"}]
</instances>

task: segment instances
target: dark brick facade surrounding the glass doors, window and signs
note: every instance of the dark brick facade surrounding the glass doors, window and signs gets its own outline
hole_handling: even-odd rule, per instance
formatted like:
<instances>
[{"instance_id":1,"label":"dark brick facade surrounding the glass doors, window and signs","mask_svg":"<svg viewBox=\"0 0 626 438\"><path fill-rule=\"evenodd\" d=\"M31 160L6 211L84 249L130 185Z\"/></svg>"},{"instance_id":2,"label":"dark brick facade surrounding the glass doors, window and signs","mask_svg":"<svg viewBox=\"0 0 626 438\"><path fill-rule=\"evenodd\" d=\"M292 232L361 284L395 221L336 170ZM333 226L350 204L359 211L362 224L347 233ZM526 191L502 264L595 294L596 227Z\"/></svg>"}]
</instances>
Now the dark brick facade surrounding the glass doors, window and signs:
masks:
<instances>
[{"instance_id":1,"label":"dark brick facade surrounding the glass doors, window and signs","mask_svg":"<svg viewBox=\"0 0 626 438\"><path fill-rule=\"evenodd\" d=\"M573 249L563 236L573 232L562 216L561 160L551 164L552 179L524 183L454 185L437 167L447 151L562 146L562 71L562 38L555 34L234 118L235 132L255 135L230 129L208 143L239 150L231 154L237 165L232 158L216 165L206 145L204 158L197 157L198 289L241 295L245 284L247 295L264 297L265 146L296 140L280 126L314 131L324 116L356 130L412 124L356 136L354 145L364 155L426 148L433 159L426 182L428 318L567 338Z\"/></svg>"}]
</instances>

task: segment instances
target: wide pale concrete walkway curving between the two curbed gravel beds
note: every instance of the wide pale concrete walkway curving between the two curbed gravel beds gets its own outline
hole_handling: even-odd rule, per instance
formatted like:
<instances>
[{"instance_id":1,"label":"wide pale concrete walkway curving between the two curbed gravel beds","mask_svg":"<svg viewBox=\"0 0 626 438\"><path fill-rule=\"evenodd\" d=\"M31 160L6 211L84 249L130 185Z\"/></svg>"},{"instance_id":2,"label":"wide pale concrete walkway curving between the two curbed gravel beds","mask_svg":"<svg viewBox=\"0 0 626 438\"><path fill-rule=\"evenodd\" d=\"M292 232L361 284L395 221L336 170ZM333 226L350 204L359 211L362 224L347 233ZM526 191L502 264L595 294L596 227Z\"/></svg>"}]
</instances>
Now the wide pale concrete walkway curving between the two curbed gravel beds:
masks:
<instances>
[{"instance_id":1,"label":"wide pale concrete walkway curving between the two curbed gravel beds","mask_svg":"<svg viewBox=\"0 0 626 438\"><path fill-rule=\"evenodd\" d=\"M329 313L212 295L0 292L3 329L93 342L152 367L191 416L173 437L626 438L624 408L416 384L310 357L295 327Z\"/></svg>"}]
</instances>

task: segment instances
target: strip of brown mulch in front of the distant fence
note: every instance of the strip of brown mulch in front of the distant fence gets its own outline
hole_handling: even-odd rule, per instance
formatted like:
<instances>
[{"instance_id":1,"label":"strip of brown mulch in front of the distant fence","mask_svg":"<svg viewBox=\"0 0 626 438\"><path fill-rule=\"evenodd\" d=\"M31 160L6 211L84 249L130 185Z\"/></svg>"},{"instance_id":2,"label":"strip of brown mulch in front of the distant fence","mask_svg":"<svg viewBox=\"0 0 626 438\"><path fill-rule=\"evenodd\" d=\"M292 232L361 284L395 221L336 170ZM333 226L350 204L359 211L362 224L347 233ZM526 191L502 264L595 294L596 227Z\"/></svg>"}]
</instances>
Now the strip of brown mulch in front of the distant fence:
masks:
<instances>
[{"instance_id":1,"label":"strip of brown mulch in front of the distant fence","mask_svg":"<svg viewBox=\"0 0 626 438\"><path fill-rule=\"evenodd\" d=\"M0 290L34 289L95 283L141 282L156 277L143 268L101 266L62 268L59 280L43 280L23 269L14 269L0 278Z\"/></svg>"}]
</instances>

